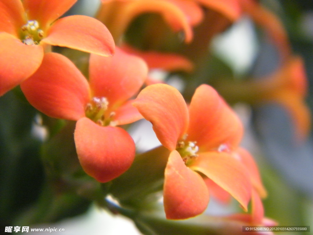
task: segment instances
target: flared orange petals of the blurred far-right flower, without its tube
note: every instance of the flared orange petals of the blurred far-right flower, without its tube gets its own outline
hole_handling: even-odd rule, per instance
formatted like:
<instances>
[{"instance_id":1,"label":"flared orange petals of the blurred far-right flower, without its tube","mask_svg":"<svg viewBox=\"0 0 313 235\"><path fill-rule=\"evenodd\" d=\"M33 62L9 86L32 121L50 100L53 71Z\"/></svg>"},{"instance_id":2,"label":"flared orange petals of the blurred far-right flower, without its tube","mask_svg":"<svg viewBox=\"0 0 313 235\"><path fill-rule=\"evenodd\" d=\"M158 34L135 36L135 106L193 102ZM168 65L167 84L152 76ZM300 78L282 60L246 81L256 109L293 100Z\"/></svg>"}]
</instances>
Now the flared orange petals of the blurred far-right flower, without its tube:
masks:
<instances>
[{"instance_id":1,"label":"flared orange petals of the blurred far-right flower, without its tube","mask_svg":"<svg viewBox=\"0 0 313 235\"><path fill-rule=\"evenodd\" d=\"M289 112L295 124L295 136L304 140L310 132L311 112L305 104L307 78L304 62L300 56L291 56L273 74L256 81L261 91L261 102L277 102Z\"/></svg>"}]
</instances>

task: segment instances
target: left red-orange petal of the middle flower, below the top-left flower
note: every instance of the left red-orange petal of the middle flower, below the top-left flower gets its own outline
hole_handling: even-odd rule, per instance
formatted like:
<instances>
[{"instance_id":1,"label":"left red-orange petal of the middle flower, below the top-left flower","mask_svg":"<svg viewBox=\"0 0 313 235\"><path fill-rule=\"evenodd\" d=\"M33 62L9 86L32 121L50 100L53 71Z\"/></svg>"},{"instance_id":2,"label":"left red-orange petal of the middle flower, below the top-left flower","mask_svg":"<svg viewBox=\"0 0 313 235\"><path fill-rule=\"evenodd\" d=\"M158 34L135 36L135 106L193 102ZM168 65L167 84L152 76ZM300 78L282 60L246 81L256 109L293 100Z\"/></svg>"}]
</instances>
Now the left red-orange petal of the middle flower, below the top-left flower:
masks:
<instances>
[{"instance_id":1,"label":"left red-orange petal of the middle flower, below the top-left flower","mask_svg":"<svg viewBox=\"0 0 313 235\"><path fill-rule=\"evenodd\" d=\"M21 88L35 108L53 118L78 120L90 100L85 77L69 59L52 52Z\"/></svg>"}]
</instances>

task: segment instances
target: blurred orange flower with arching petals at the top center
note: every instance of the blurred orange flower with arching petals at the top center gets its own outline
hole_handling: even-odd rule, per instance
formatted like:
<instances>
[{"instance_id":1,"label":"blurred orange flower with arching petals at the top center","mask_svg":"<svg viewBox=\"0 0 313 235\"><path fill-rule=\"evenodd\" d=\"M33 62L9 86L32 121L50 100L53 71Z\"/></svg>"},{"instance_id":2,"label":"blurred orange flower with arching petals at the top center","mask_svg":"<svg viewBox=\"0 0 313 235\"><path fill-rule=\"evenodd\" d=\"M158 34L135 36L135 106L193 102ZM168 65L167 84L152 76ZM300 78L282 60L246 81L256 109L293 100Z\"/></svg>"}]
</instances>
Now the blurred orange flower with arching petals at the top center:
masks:
<instances>
[{"instance_id":1,"label":"blurred orange flower with arching petals at the top center","mask_svg":"<svg viewBox=\"0 0 313 235\"><path fill-rule=\"evenodd\" d=\"M101 2L97 18L108 26L115 39L126 31L136 16L142 13L160 13L175 32L183 30L185 41L189 42L192 39L191 26L202 18L201 8L189 0L101 0Z\"/></svg>"}]
</instances>

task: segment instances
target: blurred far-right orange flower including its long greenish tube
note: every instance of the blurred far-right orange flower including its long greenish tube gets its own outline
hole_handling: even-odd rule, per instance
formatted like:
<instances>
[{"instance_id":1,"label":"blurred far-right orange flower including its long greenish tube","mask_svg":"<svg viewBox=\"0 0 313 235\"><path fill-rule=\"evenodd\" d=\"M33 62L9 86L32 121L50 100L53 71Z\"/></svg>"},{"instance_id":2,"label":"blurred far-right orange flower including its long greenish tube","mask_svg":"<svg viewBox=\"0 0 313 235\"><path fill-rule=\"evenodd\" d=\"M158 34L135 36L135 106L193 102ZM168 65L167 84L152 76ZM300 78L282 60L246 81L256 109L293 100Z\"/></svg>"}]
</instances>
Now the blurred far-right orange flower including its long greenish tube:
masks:
<instances>
[{"instance_id":1,"label":"blurred far-right orange flower including its long greenish tube","mask_svg":"<svg viewBox=\"0 0 313 235\"><path fill-rule=\"evenodd\" d=\"M228 101L244 101L254 106L278 103L289 113L295 140L303 141L311 129L311 112L305 103L307 78L303 59L290 56L273 73L249 81L227 81L215 86Z\"/></svg>"}]
</instances>

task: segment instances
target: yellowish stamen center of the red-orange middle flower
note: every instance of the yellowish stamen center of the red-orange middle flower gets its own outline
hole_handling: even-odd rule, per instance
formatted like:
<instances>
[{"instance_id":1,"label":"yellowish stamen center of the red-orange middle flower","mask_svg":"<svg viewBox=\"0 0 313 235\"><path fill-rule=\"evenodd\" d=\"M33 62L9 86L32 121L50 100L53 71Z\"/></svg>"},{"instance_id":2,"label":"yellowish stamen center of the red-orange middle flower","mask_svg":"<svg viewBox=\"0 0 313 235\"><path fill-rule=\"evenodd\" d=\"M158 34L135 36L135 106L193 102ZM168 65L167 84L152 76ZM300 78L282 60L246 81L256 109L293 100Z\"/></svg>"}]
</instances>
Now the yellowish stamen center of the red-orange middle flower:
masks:
<instances>
[{"instance_id":1,"label":"yellowish stamen center of the red-orange middle flower","mask_svg":"<svg viewBox=\"0 0 313 235\"><path fill-rule=\"evenodd\" d=\"M113 121L115 112L107 114L109 102L105 97L93 97L85 107L86 117L100 126L116 126Z\"/></svg>"}]
</instances>

